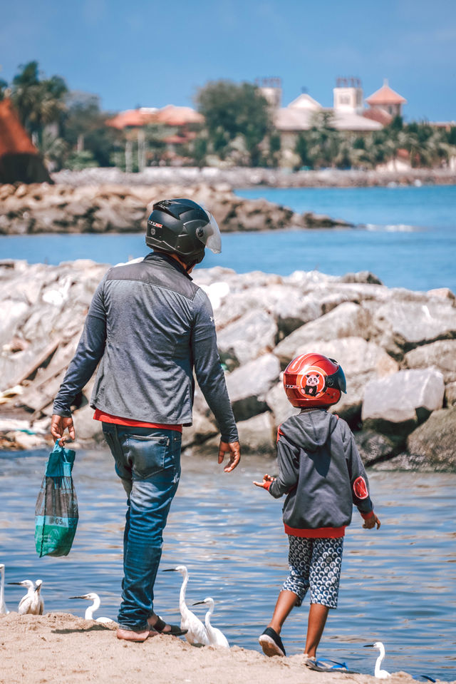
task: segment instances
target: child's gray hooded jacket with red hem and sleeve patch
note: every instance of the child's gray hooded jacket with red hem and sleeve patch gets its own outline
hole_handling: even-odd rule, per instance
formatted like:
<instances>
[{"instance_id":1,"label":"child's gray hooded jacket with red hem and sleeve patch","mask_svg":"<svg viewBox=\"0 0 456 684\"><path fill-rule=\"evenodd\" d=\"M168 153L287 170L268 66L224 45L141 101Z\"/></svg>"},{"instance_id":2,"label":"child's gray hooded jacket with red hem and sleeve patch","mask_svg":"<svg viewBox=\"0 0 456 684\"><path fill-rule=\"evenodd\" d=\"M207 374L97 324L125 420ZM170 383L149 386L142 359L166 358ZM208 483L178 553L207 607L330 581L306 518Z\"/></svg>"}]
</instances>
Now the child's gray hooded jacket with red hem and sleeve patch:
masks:
<instances>
[{"instance_id":1,"label":"child's gray hooded jacket with red hem and sleeve patch","mask_svg":"<svg viewBox=\"0 0 456 684\"><path fill-rule=\"evenodd\" d=\"M277 459L279 475L269 493L275 499L288 494L283 508L287 534L343 536L353 504L365 517L373 510L351 429L325 409L281 424ZM305 530L313 534L302 534Z\"/></svg>"}]
</instances>

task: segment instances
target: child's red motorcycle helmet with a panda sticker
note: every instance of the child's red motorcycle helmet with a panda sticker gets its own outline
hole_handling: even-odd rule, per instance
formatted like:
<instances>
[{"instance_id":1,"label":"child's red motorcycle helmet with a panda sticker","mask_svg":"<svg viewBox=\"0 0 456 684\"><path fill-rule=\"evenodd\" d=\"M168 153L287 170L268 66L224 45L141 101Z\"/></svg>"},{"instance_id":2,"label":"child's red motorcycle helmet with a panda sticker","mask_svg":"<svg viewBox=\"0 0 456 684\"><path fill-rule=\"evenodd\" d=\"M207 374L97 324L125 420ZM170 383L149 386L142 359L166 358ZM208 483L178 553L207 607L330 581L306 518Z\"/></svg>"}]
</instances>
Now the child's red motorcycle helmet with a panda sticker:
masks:
<instances>
[{"instance_id":1,"label":"child's red motorcycle helmet with a panda sticker","mask_svg":"<svg viewBox=\"0 0 456 684\"><path fill-rule=\"evenodd\" d=\"M284 371L284 389L289 402L304 409L336 404L347 385L337 361L309 352L288 364Z\"/></svg>"}]
</instances>

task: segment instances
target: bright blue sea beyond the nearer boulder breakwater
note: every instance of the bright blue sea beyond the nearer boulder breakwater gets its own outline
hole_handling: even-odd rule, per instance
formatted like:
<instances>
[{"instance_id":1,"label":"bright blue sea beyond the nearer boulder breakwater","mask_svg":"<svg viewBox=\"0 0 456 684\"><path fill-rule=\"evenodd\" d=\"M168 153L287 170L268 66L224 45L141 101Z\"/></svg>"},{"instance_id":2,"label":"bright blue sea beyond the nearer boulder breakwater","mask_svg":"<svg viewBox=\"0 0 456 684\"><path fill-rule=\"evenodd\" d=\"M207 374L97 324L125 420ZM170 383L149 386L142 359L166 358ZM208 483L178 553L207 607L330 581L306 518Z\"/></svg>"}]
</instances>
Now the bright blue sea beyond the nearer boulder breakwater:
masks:
<instances>
[{"instance_id":1,"label":"bright blue sea beyond the nearer boulder breakwater","mask_svg":"<svg viewBox=\"0 0 456 684\"><path fill-rule=\"evenodd\" d=\"M357 228L224 233L222 253L207 250L204 267L290 275L369 270L388 287L456 292L456 186L395 188L251 188L297 212L314 211ZM147 253L144 235L11 235L0 237L0 258L58 264L92 259L116 264Z\"/></svg>"}]
</instances>

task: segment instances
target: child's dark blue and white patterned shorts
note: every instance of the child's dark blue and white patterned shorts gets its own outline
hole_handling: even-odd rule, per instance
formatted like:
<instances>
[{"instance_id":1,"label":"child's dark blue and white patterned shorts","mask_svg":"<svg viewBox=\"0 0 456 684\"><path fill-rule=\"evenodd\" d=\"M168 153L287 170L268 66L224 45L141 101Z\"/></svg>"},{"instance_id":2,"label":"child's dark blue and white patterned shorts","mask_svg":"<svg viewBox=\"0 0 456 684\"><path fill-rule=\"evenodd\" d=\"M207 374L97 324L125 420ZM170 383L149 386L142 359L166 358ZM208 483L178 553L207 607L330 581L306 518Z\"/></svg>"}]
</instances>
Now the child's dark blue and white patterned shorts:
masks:
<instances>
[{"instance_id":1,"label":"child's dark blue and white patterned shorts","mask_svg":"<svg viewBox=\"0 0 456 684\"><path fill-rule=\"evenodd\" d=\"M311 603L337 608L343 537L336 539L294 537L289 534L290 574L282 589L298 596L296 606L311 588Z\"/></svg>"}]
</instances>

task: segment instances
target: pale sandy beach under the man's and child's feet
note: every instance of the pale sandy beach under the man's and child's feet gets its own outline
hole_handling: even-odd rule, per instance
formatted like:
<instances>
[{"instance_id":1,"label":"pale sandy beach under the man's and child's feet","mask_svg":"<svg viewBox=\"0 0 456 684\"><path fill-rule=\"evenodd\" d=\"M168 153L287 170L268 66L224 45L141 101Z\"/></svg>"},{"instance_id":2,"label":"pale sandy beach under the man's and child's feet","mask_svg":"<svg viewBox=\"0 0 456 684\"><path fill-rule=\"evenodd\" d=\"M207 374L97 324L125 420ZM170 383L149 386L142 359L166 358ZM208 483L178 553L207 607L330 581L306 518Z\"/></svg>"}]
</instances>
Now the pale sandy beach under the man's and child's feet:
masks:
<instances>
[{"instance_id":1,"label":"pale sandy beach under the man's and child's feet","mask_svg":"<svg viewBox=\"0 0 456 684\"><path fill-rule=\"evenodd\" d=\"M370 683L369 675L318 673L301 655L266 658L232 646L195 648L181 638L158 635L145 643L125 643L115 625L86 621L69 613L0 616L0 684L333 684ZM371 653L372 669L375 654ZM391 684L414 680L393 673Z\"/></svg>"}]
</instances>

